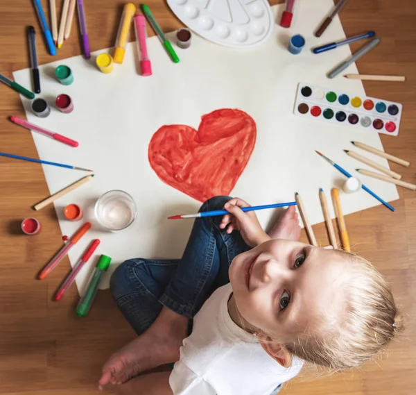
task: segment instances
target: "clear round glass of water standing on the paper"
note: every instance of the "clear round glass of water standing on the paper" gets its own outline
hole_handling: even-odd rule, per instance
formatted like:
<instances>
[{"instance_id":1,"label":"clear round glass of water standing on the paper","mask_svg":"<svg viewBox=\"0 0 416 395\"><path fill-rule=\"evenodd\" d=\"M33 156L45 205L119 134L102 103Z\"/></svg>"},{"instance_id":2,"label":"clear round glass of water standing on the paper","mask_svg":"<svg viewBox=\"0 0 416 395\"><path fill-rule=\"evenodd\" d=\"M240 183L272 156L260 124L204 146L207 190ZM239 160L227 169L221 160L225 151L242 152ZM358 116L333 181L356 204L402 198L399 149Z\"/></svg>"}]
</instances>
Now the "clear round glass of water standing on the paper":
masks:
<instances>
[{"instance_id":1,"label":"clear round glass of water standing on the paper","mask_svg":"<svg viewBox=\"0 0 416 395\"><path fill-rule=\"evenodd\" d=\"M128 228L137 216L136 203L127 192L114 190L96 202L95 216L101 226L112 232Z\"/></svg>"}]
</instances>

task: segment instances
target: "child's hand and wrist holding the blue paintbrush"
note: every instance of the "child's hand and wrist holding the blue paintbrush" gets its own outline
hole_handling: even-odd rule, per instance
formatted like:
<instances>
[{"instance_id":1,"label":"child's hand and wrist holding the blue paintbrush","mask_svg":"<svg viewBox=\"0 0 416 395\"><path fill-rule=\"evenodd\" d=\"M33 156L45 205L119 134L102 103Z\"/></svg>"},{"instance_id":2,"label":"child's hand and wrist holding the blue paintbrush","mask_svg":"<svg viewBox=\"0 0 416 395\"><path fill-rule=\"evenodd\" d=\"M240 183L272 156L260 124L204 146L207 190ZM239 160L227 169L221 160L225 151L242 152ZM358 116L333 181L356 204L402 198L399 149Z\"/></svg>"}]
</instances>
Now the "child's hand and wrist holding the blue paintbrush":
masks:
<instances>
[{"instance_id":1,"label":"child's hand and wrist holding the blue paintbrush","mask_svg":"<svg viewBox=\"0 0 416 395\"><path fill-rule=\"evenodd\" d=\"M243 212L241 207L250 207L250 205L239 198L231 199L225 203L224 208L230 214L224 215L220 229L225 229L228 226L227 233L232 233L234 229L239 230L245 243L250 247L258 246L270 239L261 228L254 211Z\"/></svg>"}]
</instances>

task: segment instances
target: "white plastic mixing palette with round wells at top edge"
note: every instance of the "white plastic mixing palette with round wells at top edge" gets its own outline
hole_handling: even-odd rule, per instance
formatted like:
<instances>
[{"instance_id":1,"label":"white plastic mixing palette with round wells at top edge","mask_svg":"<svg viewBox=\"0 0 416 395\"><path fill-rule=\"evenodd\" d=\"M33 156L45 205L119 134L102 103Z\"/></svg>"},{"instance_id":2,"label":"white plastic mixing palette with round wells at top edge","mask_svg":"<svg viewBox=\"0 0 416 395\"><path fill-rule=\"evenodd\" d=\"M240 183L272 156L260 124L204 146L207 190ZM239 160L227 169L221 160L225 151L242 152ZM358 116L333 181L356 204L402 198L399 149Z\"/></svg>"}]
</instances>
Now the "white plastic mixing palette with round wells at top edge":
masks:
<instances>
[{"instance_id":1,"label":"white plastic mixing palette with round wells at top edge","mask_svg":"<svg viewBox=\"0 0 416 395\"><path fill-rule=\"evenodd\" d=\"M173 13L192 31L216 44L252 47L270 35L275 24L266 0L168 0Z\"/></svg>"}]
</instances>

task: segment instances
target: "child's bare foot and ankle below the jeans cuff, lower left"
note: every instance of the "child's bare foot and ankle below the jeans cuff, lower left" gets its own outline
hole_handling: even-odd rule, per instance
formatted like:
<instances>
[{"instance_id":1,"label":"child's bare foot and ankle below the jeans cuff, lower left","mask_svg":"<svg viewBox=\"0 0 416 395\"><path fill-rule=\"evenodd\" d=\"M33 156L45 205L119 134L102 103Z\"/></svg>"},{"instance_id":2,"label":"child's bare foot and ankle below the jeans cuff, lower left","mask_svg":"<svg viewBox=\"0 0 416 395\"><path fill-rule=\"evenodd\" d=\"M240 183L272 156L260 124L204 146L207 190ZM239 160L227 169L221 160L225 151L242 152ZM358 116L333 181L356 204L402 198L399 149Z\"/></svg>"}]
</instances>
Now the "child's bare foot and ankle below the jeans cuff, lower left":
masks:
<instances>
[{"instance_id":1,"label":"child's bare foot and ankle below the jeans cuff, lower left","mask_svg":"<svg viewBox=\"0 0 416 395\"><path fill-rule=\"evenodd\" d=\"M163 308L143 335L110 357L98 384L125 383L143 371L179 360L182 340L187 337L188 321L186 317Z\"/></svg>"}]
</instances>

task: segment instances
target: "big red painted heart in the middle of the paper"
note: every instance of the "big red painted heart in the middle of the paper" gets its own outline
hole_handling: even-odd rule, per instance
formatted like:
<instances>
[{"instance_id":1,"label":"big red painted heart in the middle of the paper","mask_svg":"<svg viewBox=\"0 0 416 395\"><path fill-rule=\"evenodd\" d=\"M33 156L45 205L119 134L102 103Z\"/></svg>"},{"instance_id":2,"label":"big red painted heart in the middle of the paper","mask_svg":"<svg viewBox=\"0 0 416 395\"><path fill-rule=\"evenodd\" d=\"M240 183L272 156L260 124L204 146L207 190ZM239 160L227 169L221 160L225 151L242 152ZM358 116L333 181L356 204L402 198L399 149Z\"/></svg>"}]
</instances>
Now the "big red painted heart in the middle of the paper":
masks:
<instances>
[{"instance_id":1,"label":"big red painted heart in the middle of the paper","mask_svg":"<svg viewBox=\"0 0 416 395\"><path fill-rule=\"evenodd\" d=\"M157 176L193 199L229 195L256 142L254 119L224 108L202 116L198 131L162 126L150 140L148 157Z\"/></svg>"}]
</instances>

